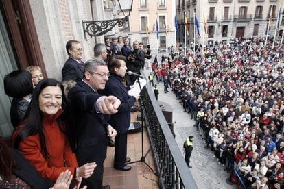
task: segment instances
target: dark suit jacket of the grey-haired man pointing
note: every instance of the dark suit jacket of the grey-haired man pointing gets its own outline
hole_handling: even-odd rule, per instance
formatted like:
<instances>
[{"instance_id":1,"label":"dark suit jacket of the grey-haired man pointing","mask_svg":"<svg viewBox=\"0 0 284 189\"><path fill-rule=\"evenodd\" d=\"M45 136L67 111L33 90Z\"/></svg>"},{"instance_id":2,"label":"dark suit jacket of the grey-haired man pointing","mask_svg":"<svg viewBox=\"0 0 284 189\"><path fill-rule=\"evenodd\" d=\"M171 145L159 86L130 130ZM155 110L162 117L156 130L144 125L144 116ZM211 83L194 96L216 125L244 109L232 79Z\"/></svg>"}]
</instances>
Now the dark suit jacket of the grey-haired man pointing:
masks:
<instances>
[{"instance_id":1,"label":"dark suit jacket of the grey-haired man pointing","mask_svg":"<svg viewBox=\"0 0 284 189\"><path fill-rule=\"evenodd\" d=\"M71 107L71 127L78 164L102 164L106 158L108 115L97 113L95 104L102 95L83 81L71 88L68 94Z\"/></svg>"}]
</instances>

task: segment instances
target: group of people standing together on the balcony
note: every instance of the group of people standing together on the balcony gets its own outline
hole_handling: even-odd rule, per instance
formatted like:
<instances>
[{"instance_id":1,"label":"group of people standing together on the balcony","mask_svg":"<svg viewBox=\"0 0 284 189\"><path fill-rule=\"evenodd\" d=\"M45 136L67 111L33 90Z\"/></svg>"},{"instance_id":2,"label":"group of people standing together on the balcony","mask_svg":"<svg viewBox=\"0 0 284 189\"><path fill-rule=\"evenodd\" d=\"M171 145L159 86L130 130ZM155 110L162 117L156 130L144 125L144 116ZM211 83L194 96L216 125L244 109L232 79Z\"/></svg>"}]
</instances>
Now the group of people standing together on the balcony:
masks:
<instances>
[{"instance_id":1,"label":"group of people standing together on the balcony","mask_svg":"<svg viewBox=\"0 0 284 189\"><path fill-rule=\"evenodd\" d=\"M12 147L0 138L0 188L110 188L102 185L109 141L114 168L131 170L127 131L139 95L128 95L134 75L128 87L122 79L143 68L143 44L106 38L87 62L79 41L69 40L66 51L62 82L44 78L38 66L5 75L14 132Z\"/></svg>"}]
</instances>

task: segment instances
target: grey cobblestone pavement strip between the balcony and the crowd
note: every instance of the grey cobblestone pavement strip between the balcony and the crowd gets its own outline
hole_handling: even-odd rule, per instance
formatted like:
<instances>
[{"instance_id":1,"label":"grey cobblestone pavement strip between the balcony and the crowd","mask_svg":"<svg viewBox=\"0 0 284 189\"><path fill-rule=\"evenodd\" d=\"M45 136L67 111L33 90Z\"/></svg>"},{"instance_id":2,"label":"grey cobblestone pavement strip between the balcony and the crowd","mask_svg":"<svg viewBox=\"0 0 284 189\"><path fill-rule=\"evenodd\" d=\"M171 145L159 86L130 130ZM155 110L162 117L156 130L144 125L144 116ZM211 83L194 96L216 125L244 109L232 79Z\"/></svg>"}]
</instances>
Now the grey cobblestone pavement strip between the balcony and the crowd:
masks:
<instances>
[{"instance_id":1,"label":"grey cobblestone pavement strip between the balcony and the crowd","mask_svg":"<svg viewBox=\"0 0 284 189\"><path fill-rule=\"evenodd\" d=\"M156 84L156 79L154 83ZM235 186L226 183L226 178L229 177L229 174L224 171L224 166L218 163L213 151L204 148L204 140L196 131L196 127L193 127L194 121L191 120L187 112L183 112L182 105L178 102L174 93L171 92L171 88L168 89L170 92L165 94L164 86L160 83L158 84L158 90L160 93L158 101L165 102L173 108L173 122L176 121L174 132L176 134L176 142L182 154L183 142L189 135L194 136L190 163L193 168L190 171L198 188L235 188Z\"/></svg>"}]
</instances>

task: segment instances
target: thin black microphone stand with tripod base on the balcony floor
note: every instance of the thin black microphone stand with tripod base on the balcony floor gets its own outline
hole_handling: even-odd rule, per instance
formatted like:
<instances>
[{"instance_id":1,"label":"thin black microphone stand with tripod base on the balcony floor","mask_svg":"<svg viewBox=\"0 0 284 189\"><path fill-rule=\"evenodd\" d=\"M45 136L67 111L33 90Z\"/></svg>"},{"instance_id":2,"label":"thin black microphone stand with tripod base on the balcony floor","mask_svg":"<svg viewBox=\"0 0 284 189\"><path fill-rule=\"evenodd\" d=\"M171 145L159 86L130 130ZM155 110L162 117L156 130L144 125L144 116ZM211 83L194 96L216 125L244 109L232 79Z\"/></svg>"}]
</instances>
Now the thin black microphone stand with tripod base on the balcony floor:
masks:
<instances>
[{"instance_id":1,"label":"thin black microphone stand with tripod base on the balcony floor","mask_svg":"<svg viewBox=\"0 0 284 189\"><path fill-rule=\"evenodd\" d=\"M140 88L140 92L142 91L142 88L141 88L141 84L140 84L140 78L137 77L137 82L139 84L139 88ZM141 106L141 142L142 142L142 145L141 145L141 148L142 148L142 155L141 155L141 159L140 160L137 160L137 161L133 161L133 162L128 162L127 164L134 164L134 163L137 163L137 162L143 162L148 168L151 169L151 171L157 175L157 173L155 173L154 169L149 165L147 164L147 162L145 162L145 158L146 156L150 153L151 149L148 149L147 153L145 153L144 155L144 129L143 129L143 99L142 97L140 97L140 106Z\"/></svg>"}]
</instances>

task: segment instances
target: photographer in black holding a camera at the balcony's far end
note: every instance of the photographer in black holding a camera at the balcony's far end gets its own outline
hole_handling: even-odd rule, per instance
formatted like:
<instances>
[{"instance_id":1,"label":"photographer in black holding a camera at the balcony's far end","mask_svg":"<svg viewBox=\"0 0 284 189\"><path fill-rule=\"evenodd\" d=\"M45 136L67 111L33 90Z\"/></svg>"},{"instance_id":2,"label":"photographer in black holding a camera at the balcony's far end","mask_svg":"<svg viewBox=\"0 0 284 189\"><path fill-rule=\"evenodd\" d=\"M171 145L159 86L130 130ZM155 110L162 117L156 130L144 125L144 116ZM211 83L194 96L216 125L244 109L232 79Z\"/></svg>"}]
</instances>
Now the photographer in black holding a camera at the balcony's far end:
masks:
<instances>
[{"instance_id":1,"label":"photographer in black holding a camera at the balcony's far end","mask_svg":"<svg viewBox=\"0 0 284 189\"><path fill-rule=\"evenodd\" d=\"M145 64L145 53L139 49L139 42L135 40L133 42L133 51L130 51L128 55L128 62L126 64L128 71L140 74L140 69L143 68ZM136 76L130 75L130 82L128 85L134 84L137 79Z\"/></svg>"}]
</instances>

